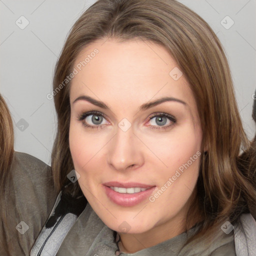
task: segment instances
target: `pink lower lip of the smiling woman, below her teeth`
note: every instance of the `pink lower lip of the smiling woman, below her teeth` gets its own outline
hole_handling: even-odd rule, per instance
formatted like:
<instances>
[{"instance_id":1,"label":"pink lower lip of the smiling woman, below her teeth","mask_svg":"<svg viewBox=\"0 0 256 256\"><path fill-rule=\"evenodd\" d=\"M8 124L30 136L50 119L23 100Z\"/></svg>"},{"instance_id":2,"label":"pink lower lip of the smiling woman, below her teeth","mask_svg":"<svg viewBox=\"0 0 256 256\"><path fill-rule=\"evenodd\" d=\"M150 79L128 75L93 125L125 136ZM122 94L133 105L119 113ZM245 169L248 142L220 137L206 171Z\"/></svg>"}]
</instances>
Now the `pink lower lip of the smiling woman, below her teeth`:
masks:
<instances>
[{"instance_id":1,"label":"pink lower lip of the smiling woman, below her teeth","mask_svg":"<svg viewBox=\"0 0 256 256\"><path fill-rule=\"evenodd\" d=\"M112 202L120 206L133 206L142 202L143 200L145 200L150 196L154 188L155 186L150 187L144 191L129 194L129 193L118 193L113 189L111 189L110 187L104 185L104 189L108 198Z\"/></svg>"}]
</instances>

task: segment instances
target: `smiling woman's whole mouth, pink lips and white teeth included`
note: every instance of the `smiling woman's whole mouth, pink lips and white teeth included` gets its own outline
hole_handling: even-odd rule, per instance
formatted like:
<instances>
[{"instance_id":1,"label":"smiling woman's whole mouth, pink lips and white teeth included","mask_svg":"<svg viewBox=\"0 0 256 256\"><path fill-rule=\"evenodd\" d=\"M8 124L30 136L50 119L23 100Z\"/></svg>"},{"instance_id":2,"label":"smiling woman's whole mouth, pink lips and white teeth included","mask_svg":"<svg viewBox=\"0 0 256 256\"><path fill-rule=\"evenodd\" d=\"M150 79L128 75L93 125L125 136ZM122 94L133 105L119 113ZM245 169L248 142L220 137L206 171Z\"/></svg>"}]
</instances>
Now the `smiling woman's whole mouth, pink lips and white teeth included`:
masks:
<instances>
[{"instance_id":1,"label":"smiling woman's whole mouth, pink lips and white teeth included","mask_svg":"<svg viewBox=\"0 0 256 256\"><path fill-rule=\"evenodd\" d=\"M111 181L103 183L107 197L120 206L134 206L149 198L155 189L155 185L137 182L120 183Z\"/></svg>"}]
</instances>

